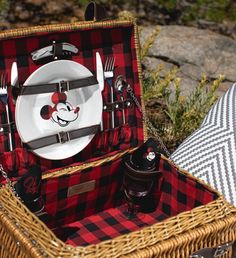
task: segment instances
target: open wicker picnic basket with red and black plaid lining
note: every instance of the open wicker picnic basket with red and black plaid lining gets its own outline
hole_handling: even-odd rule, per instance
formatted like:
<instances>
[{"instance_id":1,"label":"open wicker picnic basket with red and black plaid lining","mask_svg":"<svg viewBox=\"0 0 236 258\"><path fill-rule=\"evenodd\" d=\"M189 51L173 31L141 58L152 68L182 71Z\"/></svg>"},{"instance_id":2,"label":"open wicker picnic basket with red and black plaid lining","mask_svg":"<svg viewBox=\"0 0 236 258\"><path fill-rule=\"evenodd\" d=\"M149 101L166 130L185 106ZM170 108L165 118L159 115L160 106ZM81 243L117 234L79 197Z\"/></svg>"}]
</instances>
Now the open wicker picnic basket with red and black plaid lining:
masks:
<instances>
[{"instance_id":1,"label":"open wicker picnic basket with red and black plaid lining","mask_svg":"<svg viewBox=\"0 0 236 258\"><path fill-rule=\"evenodd\" d=\"M94 43L95 36L98 38L96 44L103 42L107 47L103 47L104 55L109 53L109 44L112 49L113 44L116 44L113 54L123 60L120 61L120 66L123 65L121 70L132 81L135 96L142 103L138 29L133 21L81 22L2 32L0 44L4 65L1 65L1 70L10 69L10 61L17 57L20 74L23 74L21 80L24 81L38 67L26 57L26 53L48 39L60 37L72 43L77 42L77 37L81 42L85 41L80 46L83 53L79 57L81 59L77 60L75 57L75 60L94 70L91 52L87 48L101 48ZM9 50L9 47L13 50L8 55L6 49ZM13 104L10 105L10 110L14 112ZM1 121L4 121L3 112ZM1 178L1 258L232 257L236 241L236 208L210 186L177 168L164 156L161 156L160 170L163 171L165 183L158 211L150 216L140 216L142 223L138 226L135 221L132 221L135 224L133 227L130 221L122 220L124 218L119 207L123 203L111 198L121 197L122 160L147 138L142 114L135 104L129 110L128 121L128 129L127 126L122 126L112 131L105 146L105 154L103 152L97 155L97 150L101 147L101 135L98 133L98 137L96 135L92 142L95 147L90 144L79 158L76 156L75 159L59 163L41 159L23 149L17 132L13 154L6 150L6 139L1 139L0 162L10 180L22 176L31 164L40 165L43 171L42 196L46 210L53 218L49 223L41 221ZM115 135L117 132L118 136ZM108 133L109 130L105 130L105 134ZM114 143L117 137L119 144ZM95 151L96 155L93 156ZM96 181L95 189L68 195L68 188L93 180ZM62 226L60 230L55 230L54 220L59 221L58 228ZM67 238L67 241L63 238L67 232L65 225L76 229L73 237L70 240ZM114 235L111 233L113 231ZM203 256L202 253L200 256L196 252L201 249L208 250L212 256Z\"/></svg>"}]
</instances>

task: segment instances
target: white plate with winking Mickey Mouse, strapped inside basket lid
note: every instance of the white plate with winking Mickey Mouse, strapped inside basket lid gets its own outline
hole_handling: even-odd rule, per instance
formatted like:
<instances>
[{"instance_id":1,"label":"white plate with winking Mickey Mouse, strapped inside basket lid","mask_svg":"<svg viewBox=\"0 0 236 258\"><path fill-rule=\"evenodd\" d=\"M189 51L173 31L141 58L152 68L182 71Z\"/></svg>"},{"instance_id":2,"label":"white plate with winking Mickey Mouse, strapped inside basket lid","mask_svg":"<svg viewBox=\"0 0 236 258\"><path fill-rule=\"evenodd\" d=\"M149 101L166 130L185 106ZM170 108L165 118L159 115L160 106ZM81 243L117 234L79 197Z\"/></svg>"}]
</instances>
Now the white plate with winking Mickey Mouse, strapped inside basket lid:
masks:
<instances>
[{"instance_id":1,"label":"white plate with winking Mickey Mouse, strapped inside basket lid","mask_svg":"<svg viewBox=\"0 0 236 258\"><path fill-rule=\"evenodd\" d=\"M81 64L59 60L41 66L29 76L24 85L76 80L91 75L92 73ZM43 93L22 95L17 98L16 127L22 142L100 124L102 96L98 85L66 92L67 99L64 103L53 103L52 95L53 93ZM78 113L74 112L76 107L80 108ZM43 115L45 109L51 111L50 115ZM83 150L93 137L94 135L88 135L63 144L57 143L36 149L33 152L46 159L65 159Z\"/></svg>"}]
</instances>

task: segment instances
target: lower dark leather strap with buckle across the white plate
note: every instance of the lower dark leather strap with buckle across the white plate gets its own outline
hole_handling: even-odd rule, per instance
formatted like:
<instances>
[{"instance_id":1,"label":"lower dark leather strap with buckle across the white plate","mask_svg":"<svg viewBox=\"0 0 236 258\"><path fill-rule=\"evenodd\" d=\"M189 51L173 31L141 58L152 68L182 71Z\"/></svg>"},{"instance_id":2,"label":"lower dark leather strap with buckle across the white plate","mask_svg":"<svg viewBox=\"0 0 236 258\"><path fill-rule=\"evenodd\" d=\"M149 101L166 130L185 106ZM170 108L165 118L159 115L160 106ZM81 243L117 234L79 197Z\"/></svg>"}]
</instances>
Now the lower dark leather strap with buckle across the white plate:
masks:
<instances>
[{"instance_id":1,"label":"lower dark leather strap with buckle across the white plate","mask_svg":"<svg viewBox=\"0 0 236 258\"><path fill-rule=\"evenodd\" d=\"M35 150L35 149L43 148L56 143L63 144L70 140L95 134L99 128L100 128L100 125L93 125L93 126L84 127L84 128L80 128L80 129L72 130L68 132L60 132L58 134L49 135L40 139L32 140L30 142L24 143L24 145L26 146L26 148L30 150Z\"/></svg>"}]
</instances>

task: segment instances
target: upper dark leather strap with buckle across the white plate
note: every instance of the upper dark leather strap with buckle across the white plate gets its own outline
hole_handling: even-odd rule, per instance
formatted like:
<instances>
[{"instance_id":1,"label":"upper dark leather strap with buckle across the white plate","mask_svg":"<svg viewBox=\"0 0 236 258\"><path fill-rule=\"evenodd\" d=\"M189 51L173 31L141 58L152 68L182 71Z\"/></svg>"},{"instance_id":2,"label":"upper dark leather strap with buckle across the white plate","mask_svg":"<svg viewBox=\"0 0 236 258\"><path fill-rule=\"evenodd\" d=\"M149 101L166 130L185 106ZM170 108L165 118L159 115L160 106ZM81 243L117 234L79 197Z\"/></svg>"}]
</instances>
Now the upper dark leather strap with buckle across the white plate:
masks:
<instances>
[{"instance_id":1,"label":"upper dark leather strap with buckle across the white plate","mask_svg":"<svg viewBox=\"0 0 236 258\"><path fill-rule=\"evenodd\" d=\"M61 81L59 83L27 85L20 88L19 95L33 95L50 92L64 92L78 88L93 86L98 84L94 76L74 80L74 81Z\"/></svg>"}]
</instances>

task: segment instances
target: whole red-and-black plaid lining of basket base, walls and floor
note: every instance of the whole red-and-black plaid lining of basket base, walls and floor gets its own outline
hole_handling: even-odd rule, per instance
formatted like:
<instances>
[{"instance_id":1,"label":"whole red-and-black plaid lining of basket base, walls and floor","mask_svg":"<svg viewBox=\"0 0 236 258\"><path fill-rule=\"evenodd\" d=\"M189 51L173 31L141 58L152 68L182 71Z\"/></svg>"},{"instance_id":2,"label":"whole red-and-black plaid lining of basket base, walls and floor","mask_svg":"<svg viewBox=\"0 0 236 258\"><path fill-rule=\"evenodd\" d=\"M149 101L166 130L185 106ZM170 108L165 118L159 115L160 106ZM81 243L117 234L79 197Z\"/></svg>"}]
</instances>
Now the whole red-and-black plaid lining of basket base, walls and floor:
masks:
<instances>
[{"instance_id":1,"label":"whole red-and-black plaid lining of basket base, walls and floor","mask_svg":"<svg viewBox=\"0 0 236 258\"><path fill-rule=\"evenodd\" d=\"M46 207L49 214L54 217L48 225L51 228L56 227L54 232L67 243L83 246L153 225L217 198L215 193L179 173L166 160L161 160L160 171L163 173L163 181L161 188L156 189L156 195L161 191L157 209L150 214L139 213L138 218L131 220L124 216L126 208L122 204L124 199L121 185L124 171L121 159L78 172L77 175L73 175L73 180L65 180L63 177L60 183L59 179L54 179L51 184L47 183L44 186ZM80 180L84 182L91 179L97 181L96 190L75 196L74 201L70 198L63 199L66 198L66 188L72 182L75 184Z\"/></svg>"}]
</instances>

